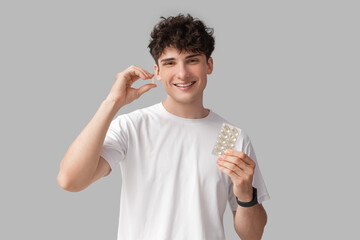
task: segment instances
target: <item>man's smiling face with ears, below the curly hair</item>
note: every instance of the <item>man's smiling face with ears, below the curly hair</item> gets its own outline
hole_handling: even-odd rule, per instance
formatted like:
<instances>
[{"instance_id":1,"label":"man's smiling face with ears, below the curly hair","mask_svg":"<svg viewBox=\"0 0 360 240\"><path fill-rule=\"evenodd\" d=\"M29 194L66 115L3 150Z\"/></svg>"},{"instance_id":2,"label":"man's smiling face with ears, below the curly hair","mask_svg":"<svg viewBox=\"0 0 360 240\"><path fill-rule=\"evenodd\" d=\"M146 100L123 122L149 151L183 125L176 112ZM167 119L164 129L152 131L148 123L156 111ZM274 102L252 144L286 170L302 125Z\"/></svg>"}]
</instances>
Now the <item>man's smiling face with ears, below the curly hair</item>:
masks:
<instances>
[{"instance_id":1,"label":"man's smiling face with ears, below the curly hair","mask_svg":"<svg viewBox=\"0 0 360 240\"><path fill-rule=\"evenodd\" d=\"M204 54L179 52L176 48L165 48L155 64L156 78L163 82L171 102L196 103L201 101L207 83L207 75L212 73L213 59L206 61Z\"/></svg>"}]
</instances>

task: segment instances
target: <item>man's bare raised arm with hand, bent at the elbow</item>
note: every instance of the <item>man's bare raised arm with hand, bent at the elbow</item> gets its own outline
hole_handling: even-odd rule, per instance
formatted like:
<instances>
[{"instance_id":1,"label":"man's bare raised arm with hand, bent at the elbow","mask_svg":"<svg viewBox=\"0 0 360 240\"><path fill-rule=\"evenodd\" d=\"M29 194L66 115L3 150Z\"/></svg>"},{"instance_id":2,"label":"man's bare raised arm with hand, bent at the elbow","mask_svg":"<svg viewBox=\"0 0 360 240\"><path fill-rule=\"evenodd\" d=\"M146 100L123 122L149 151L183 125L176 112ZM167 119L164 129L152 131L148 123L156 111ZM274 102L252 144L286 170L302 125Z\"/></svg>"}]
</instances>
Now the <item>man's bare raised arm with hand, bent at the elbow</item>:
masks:
<instances>
[{"instance_id":1,"label":"man's bare raised arm with hand, bent at the elbow","mask_svg":"<svg viewBox=\"0 0 360 240\"><path fill-rule=\"evenodd\" d=\"M61 188L79 192L110 173L110 166L100 157L110 123L120 108L156 87L155 84L146 84L135 89L131 85L139 78L145 80L153 76L134 65L117 74L109 95L70 145L60 163L57 181Z\"/></svg>"}]
</instances>

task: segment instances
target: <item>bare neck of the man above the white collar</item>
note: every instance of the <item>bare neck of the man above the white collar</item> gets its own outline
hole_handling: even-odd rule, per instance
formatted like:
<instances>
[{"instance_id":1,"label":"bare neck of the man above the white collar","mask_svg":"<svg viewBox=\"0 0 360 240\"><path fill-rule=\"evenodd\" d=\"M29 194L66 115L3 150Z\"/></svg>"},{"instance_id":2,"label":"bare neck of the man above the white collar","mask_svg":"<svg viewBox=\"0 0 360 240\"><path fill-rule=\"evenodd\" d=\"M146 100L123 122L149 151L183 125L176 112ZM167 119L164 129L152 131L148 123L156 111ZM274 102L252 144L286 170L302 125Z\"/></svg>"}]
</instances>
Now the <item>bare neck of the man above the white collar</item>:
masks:
<instances>
[{"instance_id":1,"label":"bare neck of the man above the white collar","mask_svg":"<svg viewBox=\"0 0 360 240\"><path fill-rule=\"evenodd\" d=\"M165 101L162 102L162 105L169 113L182 118L200 119L210 113L209 109L204 108L202 99L197 102L179 103L168 96Z\"/></svg>"}]
</instances>

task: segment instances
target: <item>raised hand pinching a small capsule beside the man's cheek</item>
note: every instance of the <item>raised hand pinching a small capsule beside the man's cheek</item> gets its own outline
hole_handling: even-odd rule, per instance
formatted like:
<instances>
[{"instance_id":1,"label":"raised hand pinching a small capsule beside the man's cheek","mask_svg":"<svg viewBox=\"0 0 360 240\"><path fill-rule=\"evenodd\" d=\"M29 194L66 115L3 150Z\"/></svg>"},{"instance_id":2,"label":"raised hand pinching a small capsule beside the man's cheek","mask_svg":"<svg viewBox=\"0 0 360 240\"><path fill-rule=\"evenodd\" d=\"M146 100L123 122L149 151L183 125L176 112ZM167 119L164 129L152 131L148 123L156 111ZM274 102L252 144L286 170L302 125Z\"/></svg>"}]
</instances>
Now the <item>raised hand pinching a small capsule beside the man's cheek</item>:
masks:
<instances>
[{"instance_id":1,"label":"raised hand pinching a small capsule beside the man's cheek","mask_svg":"<svg viewBox=\"0 0 360 240\"><path fill-rule=\"evenodd\" d=\"M151 88L156 87L156 84L149 83L136 89L131 87L134 82L140 78L146 80L153 77L153 73L149 73L138 66L131 65L116 75L115 82L106 99L114 102L116 107L120 109L124 105L138 99L142 94L149 91Z\"/></svg>"}]
</instances>

